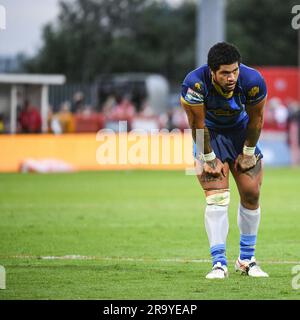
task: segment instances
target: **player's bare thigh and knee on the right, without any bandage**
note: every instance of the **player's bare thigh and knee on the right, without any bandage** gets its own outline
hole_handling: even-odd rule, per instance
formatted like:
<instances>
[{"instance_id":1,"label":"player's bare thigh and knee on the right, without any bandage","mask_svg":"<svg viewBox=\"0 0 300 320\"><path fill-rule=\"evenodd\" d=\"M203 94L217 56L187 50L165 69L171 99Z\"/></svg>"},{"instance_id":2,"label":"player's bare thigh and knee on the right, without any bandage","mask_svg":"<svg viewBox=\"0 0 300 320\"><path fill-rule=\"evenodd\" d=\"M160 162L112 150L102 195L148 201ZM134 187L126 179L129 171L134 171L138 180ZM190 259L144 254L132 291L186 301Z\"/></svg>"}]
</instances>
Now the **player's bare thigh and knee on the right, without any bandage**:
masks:
<instances>
[{"instance_id":1,"label":"player's bare thigh and knee on the right, without any bandage","mask_svg":"<svg viewBox=\"0 0 300 320\"><path fill-rule=\"evenodd\" d=\"M262 160L259 160L254 168L246 172L241 172L233 164L230 164L230 171L236 182L241 199L246 202L253 202L255 205L259 199L263 179Z\"/></svg>"}]
</instances>

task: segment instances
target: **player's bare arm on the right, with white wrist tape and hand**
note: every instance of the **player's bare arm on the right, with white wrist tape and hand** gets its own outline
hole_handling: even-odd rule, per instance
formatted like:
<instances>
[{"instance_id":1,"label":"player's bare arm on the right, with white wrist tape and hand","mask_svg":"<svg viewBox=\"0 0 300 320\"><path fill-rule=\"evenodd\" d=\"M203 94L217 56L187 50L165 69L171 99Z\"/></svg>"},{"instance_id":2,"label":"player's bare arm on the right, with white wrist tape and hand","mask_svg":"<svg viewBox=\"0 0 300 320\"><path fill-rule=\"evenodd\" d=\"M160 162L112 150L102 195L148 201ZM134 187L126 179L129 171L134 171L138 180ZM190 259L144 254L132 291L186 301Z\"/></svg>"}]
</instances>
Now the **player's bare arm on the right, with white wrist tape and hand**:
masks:
<instances>
[{"instance_id":1,"label":"player's bare arm on the right, with white wrist tape and hand","mask_svg":"<svg viewBox=\"0 0 300 320\"><path fill-rule=\"evenodd\" d=\"M249 116L246 140L244 143L243 153L237 158L237 165L239 169L244 172L255 167L257 162L255 148L264 123L265 104L266 98L261 100L256 105L246 106L246 112Z\"/></svg>"}]
</instances>

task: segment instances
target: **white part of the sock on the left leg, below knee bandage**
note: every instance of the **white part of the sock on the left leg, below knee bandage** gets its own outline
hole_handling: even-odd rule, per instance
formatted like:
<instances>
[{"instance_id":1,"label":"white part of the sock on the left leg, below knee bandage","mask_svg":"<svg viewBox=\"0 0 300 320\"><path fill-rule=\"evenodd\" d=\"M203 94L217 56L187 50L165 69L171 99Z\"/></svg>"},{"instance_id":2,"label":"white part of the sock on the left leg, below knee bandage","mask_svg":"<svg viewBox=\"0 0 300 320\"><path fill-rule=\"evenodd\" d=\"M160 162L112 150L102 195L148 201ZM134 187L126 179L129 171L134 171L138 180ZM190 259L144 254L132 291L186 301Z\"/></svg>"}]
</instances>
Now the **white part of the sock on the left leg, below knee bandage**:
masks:
<instances>
[{"instance_id":1,"label":"white part of the sock on the left leg, below knee bandage","mask_svg":"<svg viewBox=\"0 0 300 320\"><path fill-rule=\"evenodd\" d=\"M229 229L228 206L207 205L205 229L210 247L225 244Z\"/></svg>"}]
</instances>

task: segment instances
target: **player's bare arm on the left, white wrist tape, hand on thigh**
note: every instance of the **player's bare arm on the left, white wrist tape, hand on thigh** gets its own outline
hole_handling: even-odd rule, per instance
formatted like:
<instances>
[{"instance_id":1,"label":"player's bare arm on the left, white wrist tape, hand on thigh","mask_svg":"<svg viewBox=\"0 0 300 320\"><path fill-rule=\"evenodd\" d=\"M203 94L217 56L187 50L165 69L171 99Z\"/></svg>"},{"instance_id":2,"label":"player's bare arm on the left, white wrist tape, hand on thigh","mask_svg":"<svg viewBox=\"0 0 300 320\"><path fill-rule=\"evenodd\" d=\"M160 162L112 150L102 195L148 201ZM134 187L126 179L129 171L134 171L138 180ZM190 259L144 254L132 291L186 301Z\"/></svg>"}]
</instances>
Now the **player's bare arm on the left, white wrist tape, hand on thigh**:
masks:
<instances>
[{"instance_id":1,"label":"player's bare arm on the left, white wrist tape, hand on thigh","mask_svg":"<svg viewBox=\"0 0 300 320\"><path fill-rule=\"evenodd\" d=\"M216 158L211 145L208 128L205 126L205 106L204 103L188 103L183 97L180 99L181 106L186 112L190 128L192 130L193 140L196 143L197 129L204 130L204 173L214 177L225 176L224 164Z\"/></svg>"}]
</instances>

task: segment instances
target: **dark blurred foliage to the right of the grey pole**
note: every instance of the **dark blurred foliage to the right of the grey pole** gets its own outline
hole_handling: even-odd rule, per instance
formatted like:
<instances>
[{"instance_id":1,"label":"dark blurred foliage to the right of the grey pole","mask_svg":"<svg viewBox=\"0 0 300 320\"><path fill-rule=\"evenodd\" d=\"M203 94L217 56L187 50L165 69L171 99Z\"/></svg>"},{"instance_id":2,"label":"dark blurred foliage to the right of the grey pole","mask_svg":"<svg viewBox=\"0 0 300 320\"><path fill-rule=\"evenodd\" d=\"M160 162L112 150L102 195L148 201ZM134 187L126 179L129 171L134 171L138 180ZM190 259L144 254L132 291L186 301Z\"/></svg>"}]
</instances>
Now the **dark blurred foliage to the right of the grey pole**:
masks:
<instances>
[{"instance_id":1,"label":"dark blurred foliage to the right of the grey pole","mask_svg":"<svg viewBox=\"0 0 300 320\"><path fill-rule=\"evenodd\" d=\"M295 0L227 0L227 40L250 65L297 65L297 31L291 26Z\"/></svg>"}]
</instances>

